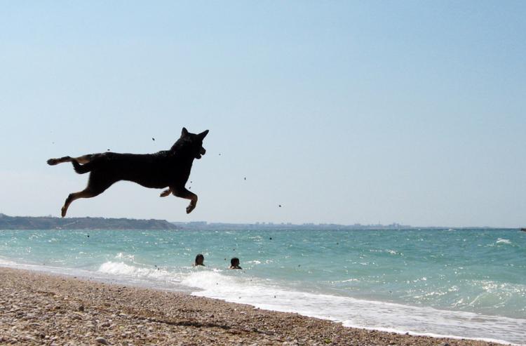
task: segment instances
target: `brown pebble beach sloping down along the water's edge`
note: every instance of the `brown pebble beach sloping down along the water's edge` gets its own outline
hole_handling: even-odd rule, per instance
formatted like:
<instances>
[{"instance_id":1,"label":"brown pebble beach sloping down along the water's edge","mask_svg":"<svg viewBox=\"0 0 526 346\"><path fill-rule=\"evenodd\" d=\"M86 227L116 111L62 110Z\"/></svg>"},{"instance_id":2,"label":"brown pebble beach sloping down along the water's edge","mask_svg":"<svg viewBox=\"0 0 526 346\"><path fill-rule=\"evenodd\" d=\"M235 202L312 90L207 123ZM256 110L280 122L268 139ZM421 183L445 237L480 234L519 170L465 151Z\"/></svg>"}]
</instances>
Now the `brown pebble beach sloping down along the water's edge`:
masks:
<instances>
[{"instance_id":1,"label":"brown pebble beach sloping down along the water's edge","mask_svg":"<svg viewBox=\"0 0 526 346\"><path fill-rule=\"evenodd\" d=\"M351 328L187 293L0 267L0 344L104 345L104 341L108 345L502 345Z\"/></svg>"}]
</instances>

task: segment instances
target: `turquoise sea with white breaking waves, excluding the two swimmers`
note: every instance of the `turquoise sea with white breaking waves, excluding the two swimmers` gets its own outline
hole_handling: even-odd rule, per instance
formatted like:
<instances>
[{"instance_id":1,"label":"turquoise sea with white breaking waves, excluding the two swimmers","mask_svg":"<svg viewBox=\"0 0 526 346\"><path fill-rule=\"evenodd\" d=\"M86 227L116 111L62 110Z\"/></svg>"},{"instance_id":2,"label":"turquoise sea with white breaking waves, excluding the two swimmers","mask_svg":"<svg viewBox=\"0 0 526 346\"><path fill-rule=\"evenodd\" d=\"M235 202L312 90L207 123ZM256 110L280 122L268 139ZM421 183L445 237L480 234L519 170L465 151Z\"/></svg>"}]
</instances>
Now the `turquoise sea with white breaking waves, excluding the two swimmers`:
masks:
<instances>
[{"instance_id":1,"label":"turquoise sea with white breaking waves, excluding the two swimmers","mask_svg":"<svg viewBox=\"0 0 526 346\"><path fill-rule=\"evenodd\" d=\"M192 267L203 253L206 267ZM243 270L228 270L231 257ZM526 232L0 230L0 265L342 321L526 344Z\"/></svg>"}]
</instances>

